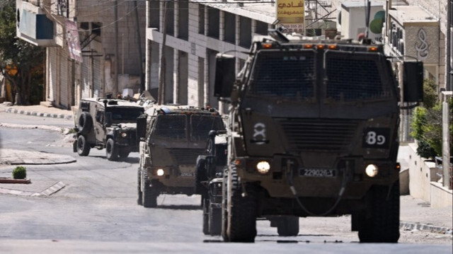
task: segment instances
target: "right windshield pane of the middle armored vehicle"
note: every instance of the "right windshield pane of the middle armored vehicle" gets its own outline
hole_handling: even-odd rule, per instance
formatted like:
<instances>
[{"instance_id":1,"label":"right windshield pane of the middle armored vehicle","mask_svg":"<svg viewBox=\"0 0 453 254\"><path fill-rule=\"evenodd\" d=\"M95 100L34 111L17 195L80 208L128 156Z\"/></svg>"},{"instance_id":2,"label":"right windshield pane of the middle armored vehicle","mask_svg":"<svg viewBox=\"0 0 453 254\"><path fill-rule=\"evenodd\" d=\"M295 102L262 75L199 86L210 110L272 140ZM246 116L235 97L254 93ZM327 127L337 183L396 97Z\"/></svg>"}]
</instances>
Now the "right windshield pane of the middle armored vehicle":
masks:
<instances>
[{"instance_id":1,"label":"right windshield pane of the middle armored vehicle","mask_svg":"<svg viewBox=\"0 0 453 254\"><path fill-rule=\"evenodd\" d=\"M192 115L190 122L190 139L192 141L205 141L211 130L224 129L222 118L218 115Z\"/></svg>"}]
</instances>

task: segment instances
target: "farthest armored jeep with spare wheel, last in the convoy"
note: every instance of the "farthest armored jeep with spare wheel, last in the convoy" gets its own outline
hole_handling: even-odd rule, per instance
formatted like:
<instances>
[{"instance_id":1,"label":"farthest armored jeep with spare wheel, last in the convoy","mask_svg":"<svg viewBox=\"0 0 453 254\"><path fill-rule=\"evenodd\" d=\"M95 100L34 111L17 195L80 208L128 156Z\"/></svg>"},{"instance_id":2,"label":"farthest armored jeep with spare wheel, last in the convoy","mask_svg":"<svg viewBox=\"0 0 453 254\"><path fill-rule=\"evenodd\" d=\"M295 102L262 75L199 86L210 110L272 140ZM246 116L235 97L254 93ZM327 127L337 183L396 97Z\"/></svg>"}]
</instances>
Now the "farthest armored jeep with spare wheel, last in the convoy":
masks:
<instances>
[{"instance_id":1,"label":"farthest armored jeep with spare wheel, last in the convoy","mask_svg":"<svg viewBox=\"0 0 453 254\"><path fill-rule=\"evenodd\" d=\"M84 98L74 114L74 152L88 156L91 148L105 149L109 161L138 151L137 117L144 108L129 100Z\"/></svg>"}]
</instances>

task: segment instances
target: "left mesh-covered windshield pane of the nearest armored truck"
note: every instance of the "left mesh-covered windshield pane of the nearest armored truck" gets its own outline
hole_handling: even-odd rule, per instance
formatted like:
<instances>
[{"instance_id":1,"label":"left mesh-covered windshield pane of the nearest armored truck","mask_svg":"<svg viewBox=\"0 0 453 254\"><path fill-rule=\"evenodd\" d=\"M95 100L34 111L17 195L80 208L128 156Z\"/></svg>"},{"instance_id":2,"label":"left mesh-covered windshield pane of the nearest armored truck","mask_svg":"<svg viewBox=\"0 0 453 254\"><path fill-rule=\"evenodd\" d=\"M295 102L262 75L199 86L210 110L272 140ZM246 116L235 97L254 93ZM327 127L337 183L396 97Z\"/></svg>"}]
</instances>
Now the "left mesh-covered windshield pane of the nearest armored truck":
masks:
<instances>
[{"instance_id":1,"label":"left mesh-covered windshield pane of the nearest armored truck","mask_svg":"<svg viewBox=\"0 0 453 254\"><path fill-rule=\"evenodd\" d=\"M248 96L304 100L314 97L312 52L259 52Z\"/></svg>"}]
</instances>

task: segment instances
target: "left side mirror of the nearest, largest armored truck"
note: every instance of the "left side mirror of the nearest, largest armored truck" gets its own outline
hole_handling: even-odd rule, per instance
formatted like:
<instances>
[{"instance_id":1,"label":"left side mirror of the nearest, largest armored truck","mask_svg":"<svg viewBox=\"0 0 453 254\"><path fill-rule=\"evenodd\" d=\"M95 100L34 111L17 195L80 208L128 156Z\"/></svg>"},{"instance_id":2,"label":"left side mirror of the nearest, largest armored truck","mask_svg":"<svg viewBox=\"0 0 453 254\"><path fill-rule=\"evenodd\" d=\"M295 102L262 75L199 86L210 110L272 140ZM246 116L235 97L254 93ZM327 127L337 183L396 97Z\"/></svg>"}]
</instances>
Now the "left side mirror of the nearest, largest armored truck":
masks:
<instances>
[{"instance_id":1,"label":"left side mirror of the nearest, largest armored truck","mask_svg":"<svg viewBox=\"0 0 453 254\"><path fill-rule=\"evenodd\" d=\"M219 53L215 56L214 96L231 97L233 83L236 79L234 70L236 59L231 54Z\"/></svg>"}]
</instances>

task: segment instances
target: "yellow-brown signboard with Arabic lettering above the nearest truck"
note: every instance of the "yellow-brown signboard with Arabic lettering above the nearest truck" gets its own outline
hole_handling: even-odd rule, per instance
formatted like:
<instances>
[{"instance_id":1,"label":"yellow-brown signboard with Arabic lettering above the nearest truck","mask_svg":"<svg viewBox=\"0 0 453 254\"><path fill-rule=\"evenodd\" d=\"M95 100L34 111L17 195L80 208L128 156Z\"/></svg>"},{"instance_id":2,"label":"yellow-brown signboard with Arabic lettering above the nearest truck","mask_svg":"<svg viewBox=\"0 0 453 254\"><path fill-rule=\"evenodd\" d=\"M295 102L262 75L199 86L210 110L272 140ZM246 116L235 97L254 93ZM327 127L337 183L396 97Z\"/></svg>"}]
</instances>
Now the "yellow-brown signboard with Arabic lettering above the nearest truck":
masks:
<instances>
[{"instance_id":1,"label":"yellow-brown signboard with Arabic lettering above the nearest truck","mask_svg":"<svg viewBox=\"0 0 453 254\"><path fill-rule=\"evenodd\" d=\"M277 0L277 19L289 33L304 33L305 28L304 0Z\"/></svg>"}]
</instances>

